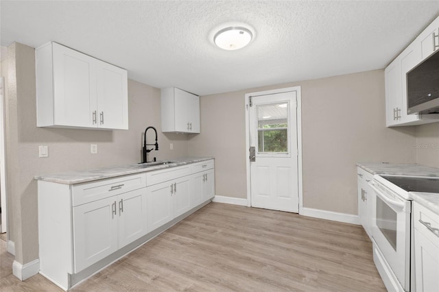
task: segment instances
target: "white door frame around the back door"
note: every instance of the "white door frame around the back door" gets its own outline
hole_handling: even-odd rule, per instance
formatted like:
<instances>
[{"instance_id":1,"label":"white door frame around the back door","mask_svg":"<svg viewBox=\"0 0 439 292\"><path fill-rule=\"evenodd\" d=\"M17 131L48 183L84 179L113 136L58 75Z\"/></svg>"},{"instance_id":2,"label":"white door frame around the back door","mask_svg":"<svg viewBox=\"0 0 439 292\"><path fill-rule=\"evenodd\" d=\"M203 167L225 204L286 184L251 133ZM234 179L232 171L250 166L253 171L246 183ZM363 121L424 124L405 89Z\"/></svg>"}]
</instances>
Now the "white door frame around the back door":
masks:
<instances>
[{"instance_id":1,"label":"white door frame around the back door","mask_svg":"<svg viewBox=\"0 0 439 292\"><path fill-rule=\"evenodd\" d=\"M274 90L265 90L255 93L246 93L244 97L244 109L246 111L246 175L247 175L247 206L252 206L251 199L251 184L250 184L250 112L248 110L250 103L250 97L256 97L260 95L273 95L276 93L287 93L290 91L296 91L297 94L297 171L298 171L298 196L299 196L299 214L303 211L303 187L302 187L302 95L300 92L300 86L293 86L287 88L278 88Z\"/></svg>"}]
</instances>

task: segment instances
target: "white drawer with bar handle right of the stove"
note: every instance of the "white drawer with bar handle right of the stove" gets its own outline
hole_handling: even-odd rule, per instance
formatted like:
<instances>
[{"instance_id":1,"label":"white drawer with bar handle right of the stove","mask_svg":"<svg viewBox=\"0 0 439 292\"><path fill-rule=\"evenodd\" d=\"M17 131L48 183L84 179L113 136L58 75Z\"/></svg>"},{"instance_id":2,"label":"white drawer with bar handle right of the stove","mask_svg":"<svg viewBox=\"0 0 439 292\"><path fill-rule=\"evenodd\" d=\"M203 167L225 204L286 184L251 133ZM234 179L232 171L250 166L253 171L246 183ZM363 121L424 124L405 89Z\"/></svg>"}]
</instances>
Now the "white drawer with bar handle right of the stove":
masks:
<instances>
[{"instance_id":1,"label":"white drawer with bar handle right of the stove","mask_svg":"<svg viewBox=\"0 0 439 292\"><path fill-rule=\"evenodd\" d=\"M416 202L413 205L414 228L439 248L439 230L437 230L439 229L439 214Z\"/></svg>"}]
</instances>

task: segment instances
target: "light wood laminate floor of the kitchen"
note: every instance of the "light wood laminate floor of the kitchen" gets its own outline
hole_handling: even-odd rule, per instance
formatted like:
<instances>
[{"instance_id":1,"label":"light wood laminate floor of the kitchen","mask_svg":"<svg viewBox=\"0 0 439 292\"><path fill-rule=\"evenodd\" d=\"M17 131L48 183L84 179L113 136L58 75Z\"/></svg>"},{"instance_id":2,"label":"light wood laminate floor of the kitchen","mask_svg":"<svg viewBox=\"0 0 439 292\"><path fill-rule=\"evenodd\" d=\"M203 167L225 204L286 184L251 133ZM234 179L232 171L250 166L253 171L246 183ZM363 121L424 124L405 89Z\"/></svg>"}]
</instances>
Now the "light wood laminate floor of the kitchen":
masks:
<instances>
[{"instance_id":1,"label":"light wood laminate floor of the kitchen","mask_svg":"<svg viewBox=\"0 0 439 292\"><path fill-rule=\"evenodd\" d=\"M1 241L0 291L20 282ZM360 226L211 203L72 291L385 291Z\"/></svg>"}]
</instances>

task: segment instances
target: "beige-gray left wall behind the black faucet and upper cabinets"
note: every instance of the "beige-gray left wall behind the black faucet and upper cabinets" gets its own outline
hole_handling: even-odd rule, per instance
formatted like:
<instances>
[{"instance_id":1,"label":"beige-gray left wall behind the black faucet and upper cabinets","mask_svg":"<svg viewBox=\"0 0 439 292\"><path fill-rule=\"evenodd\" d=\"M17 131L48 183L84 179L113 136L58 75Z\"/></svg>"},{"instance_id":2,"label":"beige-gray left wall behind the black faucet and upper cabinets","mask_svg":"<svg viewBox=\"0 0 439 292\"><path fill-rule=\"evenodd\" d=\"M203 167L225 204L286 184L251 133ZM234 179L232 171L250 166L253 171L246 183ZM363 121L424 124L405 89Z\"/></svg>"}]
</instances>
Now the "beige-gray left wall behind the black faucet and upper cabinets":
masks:
<instances>
[{"instance_id":1,"label":"beige-gray left wall behind the black faucet and upper cabinets","mask_svg":"<svg viewBox=\"0 0 439 292\"><path fill-rule=\"evenodd\" d=\"M187 136L161 133L160 90L128 81L130 130L71 130L36 127L34 49L19 43L8 48L7 165L8 197L11 204L10 240L15 243L16 260L29 263L38 258L38 212L35 175L141 161L145 127L158 130L158 159L187 156ZM150 136L151 134L151 136ZM148 132L149 141L153 141ZM98 154L90 154L90 144ZM169 150L174 143L174 150ZM38 158L38 145L49 146L49 157Z\"/></svg>"}]
</instances>

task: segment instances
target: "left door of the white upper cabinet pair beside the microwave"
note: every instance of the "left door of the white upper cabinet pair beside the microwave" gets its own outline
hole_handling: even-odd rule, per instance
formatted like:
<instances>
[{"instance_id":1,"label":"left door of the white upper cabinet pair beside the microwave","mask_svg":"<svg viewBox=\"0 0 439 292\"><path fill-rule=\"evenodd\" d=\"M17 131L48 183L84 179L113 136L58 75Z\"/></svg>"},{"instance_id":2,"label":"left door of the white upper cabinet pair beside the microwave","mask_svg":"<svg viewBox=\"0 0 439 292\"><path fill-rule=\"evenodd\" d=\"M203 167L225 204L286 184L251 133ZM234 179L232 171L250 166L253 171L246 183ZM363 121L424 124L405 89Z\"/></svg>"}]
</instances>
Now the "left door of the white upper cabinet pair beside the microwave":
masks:
<instances>
[{"instance_id":1,"label":"left door of the white upper cabinet pair beside the microwave","mask_svg":"<svg viewBox=\"0 0 439 292\"><path fill-rule=\"evenodd\" d=\"M385 69L385 117L388 127L399 123L397 110L402 104L401 86L401 62L396 59Z\"/></svg>"}]
</instances>

